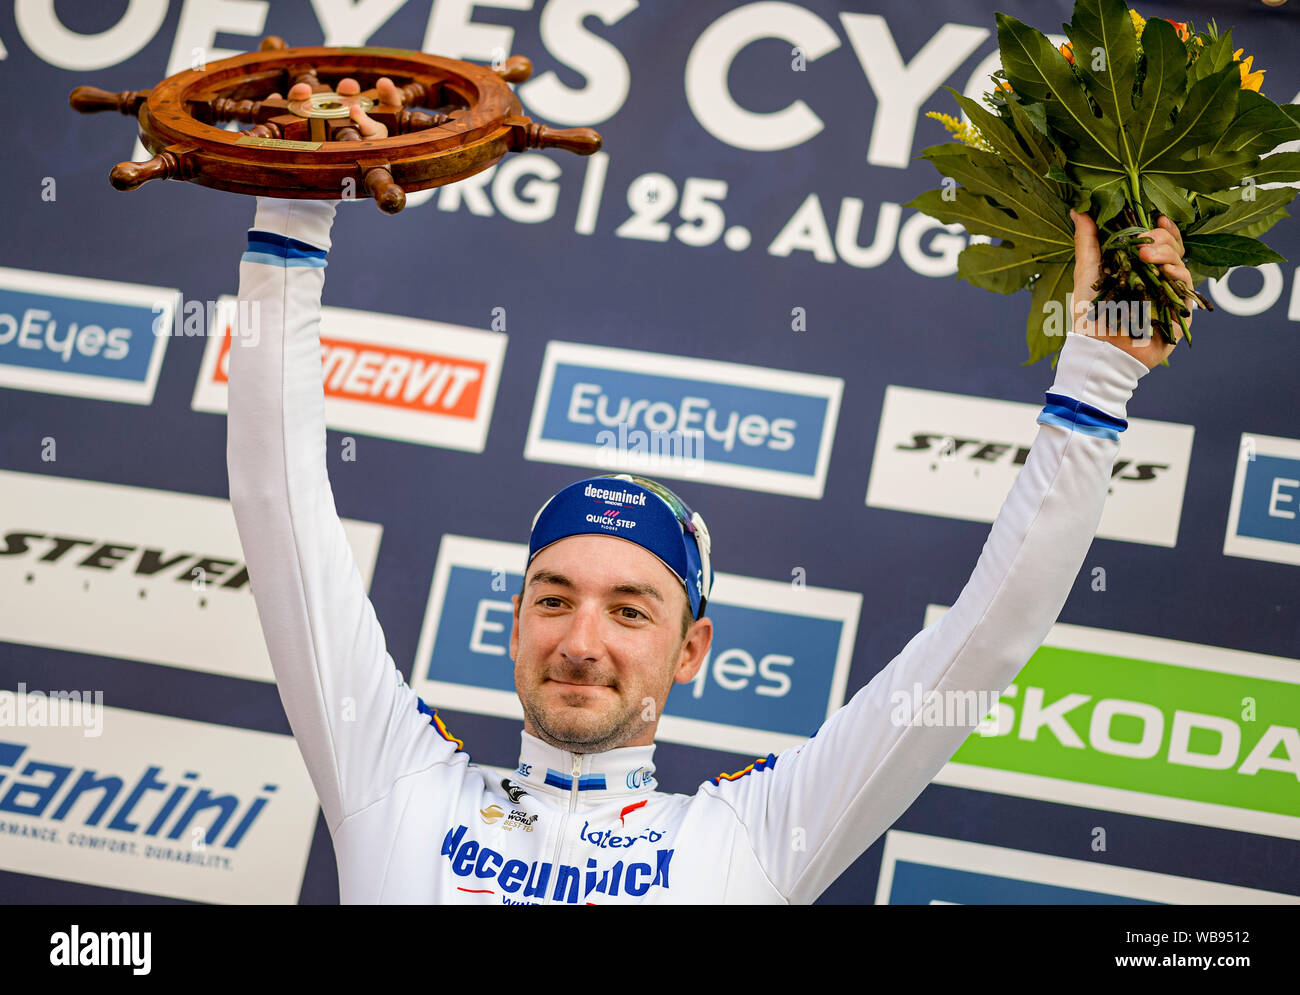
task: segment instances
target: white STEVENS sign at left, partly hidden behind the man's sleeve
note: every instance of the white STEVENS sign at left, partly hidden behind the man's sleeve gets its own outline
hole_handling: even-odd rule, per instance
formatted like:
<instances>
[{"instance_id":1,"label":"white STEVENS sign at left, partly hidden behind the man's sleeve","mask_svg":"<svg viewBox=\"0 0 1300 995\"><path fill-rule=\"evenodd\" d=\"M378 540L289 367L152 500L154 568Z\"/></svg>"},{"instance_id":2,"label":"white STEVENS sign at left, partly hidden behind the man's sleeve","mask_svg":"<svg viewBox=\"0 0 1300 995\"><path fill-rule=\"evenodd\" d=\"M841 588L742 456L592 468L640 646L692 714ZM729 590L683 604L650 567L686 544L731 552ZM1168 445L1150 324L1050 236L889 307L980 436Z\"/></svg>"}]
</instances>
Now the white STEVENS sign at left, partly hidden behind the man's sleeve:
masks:
<instances>
[{"instance_id":1,"label":"white STEVENS sign at left, partly hidden behind the man's sleeve","mask_svg":"<svg viewBox=\"0 0 1300 995\"><path fill-rule=\"evenodd\" d=\"M230 502L0 471L0 640L273 680ZM380 525L344 522L369 587Z\"/></svg>"}]
</instances>

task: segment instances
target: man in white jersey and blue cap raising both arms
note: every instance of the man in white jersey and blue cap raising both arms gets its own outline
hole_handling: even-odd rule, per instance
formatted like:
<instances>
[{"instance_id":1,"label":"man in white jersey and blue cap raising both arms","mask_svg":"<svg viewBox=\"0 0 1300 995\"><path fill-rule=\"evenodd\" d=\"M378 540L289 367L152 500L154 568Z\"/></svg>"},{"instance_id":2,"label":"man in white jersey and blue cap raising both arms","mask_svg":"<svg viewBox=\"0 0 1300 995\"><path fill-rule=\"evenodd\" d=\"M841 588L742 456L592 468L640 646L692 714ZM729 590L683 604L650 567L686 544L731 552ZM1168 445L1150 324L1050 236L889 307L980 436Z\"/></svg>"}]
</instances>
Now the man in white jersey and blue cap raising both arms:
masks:
<instances>
[{"instance_id":1,"label":"man in white jersey and blue cap raising both arms","mask_svg":"<svg viewBox=\"0 0 1300 995\"><path fill-rule=\"evenodd\" d=\"M384 134L359 108L352 117L367 137ZM696 675L712 639L703 520L641 479L566 488L533 523L514 597L525 718L519 767L503 780L471 763L402 680L334 510L318 338L333 216L330 203L257 203L239 295L259 302L260 341L230 351L229 471L346 903L816 899L978 721L897 722L894 689L997 696L1046 636L1101 518L1128 397L1173 350L1097 337L1078 317L1030 457L953 607L812 739L694 795L654 791L653 754L670 688ZM1178 229L1161 219L1148 235L1143 256L1191 286ZM1100 248L1086 215L1075 252L1075 298L1088 300Z\"/></svg>"}]
</instances>

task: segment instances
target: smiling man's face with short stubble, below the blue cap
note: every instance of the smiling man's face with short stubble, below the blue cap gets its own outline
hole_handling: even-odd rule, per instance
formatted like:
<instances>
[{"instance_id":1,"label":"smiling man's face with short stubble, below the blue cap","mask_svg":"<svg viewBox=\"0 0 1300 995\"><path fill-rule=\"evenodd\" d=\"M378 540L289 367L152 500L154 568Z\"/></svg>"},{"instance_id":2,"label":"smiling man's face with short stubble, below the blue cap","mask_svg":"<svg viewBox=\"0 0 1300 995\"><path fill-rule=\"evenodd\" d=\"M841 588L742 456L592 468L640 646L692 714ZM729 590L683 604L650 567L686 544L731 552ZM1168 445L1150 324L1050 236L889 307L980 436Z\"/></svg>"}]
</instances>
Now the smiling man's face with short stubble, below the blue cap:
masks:
<instances>
[{"instance_id":1,"label":"smiling man's face with short stubble, below the blue cap","mask_svg":"<svg viewBox=\"0 0 1300 995\"><path fill-rule=\"evenodd\" d=\"M552 542L514 602L510 656L524 731L573 753L653 743L668 691L696 676L712 641L707 618L682 637L681 581L614 536Z\"/></svg>"}]
</instances>

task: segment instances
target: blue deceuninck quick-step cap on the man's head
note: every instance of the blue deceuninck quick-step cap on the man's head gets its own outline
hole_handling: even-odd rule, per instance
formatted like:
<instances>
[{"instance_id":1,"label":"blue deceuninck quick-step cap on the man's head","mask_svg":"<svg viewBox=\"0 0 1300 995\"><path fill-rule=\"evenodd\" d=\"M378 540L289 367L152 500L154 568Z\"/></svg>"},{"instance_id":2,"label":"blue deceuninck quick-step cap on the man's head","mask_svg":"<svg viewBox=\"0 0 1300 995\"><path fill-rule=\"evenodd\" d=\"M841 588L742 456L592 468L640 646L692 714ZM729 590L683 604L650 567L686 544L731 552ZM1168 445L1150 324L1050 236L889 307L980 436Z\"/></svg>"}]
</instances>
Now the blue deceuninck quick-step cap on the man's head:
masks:
<instances>
[{"instance_id":1,"label":"blue deceuninck quick-step cap on the man's head","mask_svg":"<svg viewBox=\"0 0 1300 995\"><path fill-rule=\"evenodd\" d=\"M705 520L663 484L630 473L569 484L533 518L528 562L552 542L586 535L616 536L654 553L685 588L692 617L698 619L703 614L714 581L708 564L708 529Z\"/></svg>"}]
</instances>

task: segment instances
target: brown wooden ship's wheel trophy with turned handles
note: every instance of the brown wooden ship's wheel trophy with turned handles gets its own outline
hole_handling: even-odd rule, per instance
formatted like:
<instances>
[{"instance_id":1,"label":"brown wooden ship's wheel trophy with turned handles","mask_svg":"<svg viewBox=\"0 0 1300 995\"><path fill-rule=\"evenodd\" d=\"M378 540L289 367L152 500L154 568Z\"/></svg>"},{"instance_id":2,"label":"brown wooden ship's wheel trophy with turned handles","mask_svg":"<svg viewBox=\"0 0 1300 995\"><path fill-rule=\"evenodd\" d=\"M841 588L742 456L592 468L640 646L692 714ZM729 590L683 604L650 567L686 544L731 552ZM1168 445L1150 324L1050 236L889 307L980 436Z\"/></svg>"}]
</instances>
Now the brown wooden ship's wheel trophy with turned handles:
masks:
<instances>
[{"instance_id":1,"label":"brown wooden ship's wheel trophy with turned handles","mask_svg":"<svg viewBox=\"0 0 1300 995\"><path fill-rule=\"evenodd\" d=\"M110 94L79 86L69 103L82 113L138 117L153 157L113 166L109 182L118 190L150 179L316 200L355 190L391 215L406 207L408 191L463 179L507 152L592 155L601 147L590 127L547 127L523 113L508 83L532 72L523 56L493 69L396 48L286 48L280 38L266 38L257 52L177 73L152 90ZM382 77L396 85L398 104L381 101L376 82ZM346 78L360 85L358 98L335 92ZM281 96L295 83L308 83L311 98ZM387 138L361 137L347 107L358 99L387 127ZM230 121L248 127L220 126Z\"/></svg>"}]
</instances>

